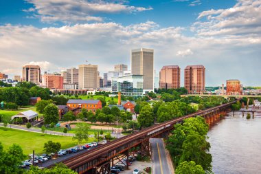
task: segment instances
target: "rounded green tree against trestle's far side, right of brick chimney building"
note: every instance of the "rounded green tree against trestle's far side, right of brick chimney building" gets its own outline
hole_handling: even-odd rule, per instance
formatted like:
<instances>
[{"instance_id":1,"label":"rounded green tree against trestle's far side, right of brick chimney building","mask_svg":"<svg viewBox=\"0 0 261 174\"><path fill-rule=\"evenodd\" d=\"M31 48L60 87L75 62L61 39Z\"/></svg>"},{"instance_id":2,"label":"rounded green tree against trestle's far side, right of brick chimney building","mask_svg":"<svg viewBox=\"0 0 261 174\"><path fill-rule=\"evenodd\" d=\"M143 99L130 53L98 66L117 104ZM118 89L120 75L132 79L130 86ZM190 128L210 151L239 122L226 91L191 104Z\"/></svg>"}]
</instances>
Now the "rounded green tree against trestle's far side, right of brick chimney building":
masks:
<instances>
[{"instance_id":1,"label":"rounded green tree against trestle's far side, right of brick chimney building","mask_svg":"<svg viewBox=\"0 0 261 174\"><path fill-rule=\"evenodd\" d=\"M141 127L150 127L153 124L154 118L150 106L147 105L141 109L137 120Z\"/></svg>"}]
</instances>

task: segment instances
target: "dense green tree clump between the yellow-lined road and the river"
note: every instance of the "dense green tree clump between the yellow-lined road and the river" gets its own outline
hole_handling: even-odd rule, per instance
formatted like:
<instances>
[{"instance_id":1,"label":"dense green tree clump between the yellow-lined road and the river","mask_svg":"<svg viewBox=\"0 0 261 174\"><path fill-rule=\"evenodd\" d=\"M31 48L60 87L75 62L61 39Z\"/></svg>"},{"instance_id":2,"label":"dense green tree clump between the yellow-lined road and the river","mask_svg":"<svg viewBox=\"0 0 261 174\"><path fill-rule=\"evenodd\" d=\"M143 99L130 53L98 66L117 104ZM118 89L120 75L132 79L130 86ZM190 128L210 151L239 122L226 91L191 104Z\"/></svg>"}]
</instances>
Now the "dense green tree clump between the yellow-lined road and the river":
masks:
<instances>
[{"instance_id":1,"label":"dense green tree clump between the yellow-lined road and the river","mask_svg":"<svg viewBox=\"0 0 261 174\"><path fill-rule=\"evenodd\" d=\"M212 173L212 155L207 142L209 127L204 118L188 118L176 124L168 138L167 149L176 166L175 173Z\"/></svg>"}]
</instances>

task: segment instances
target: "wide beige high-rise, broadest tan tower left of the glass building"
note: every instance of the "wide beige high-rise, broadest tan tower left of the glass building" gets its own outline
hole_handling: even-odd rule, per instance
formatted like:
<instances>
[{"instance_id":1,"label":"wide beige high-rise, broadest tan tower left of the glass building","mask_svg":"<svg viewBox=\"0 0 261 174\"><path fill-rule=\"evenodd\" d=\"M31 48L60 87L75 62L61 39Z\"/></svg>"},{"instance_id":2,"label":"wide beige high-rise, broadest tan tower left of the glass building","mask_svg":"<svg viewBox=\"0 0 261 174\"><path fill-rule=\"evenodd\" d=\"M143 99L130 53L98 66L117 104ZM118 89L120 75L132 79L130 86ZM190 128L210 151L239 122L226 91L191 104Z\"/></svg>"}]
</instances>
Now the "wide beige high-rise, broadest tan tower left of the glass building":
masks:
<instances>
[{"instance_id":1,"label":"wide beige high-rise, broadest tan tower left of the glass building","mask_svg":"<svg viewBox=\"0 0 261 174\"><path fill-rule=\"evenodd\" d=\"M98 65L79 65L79 89L98 88Z\"/></svg>"}]
</instances>

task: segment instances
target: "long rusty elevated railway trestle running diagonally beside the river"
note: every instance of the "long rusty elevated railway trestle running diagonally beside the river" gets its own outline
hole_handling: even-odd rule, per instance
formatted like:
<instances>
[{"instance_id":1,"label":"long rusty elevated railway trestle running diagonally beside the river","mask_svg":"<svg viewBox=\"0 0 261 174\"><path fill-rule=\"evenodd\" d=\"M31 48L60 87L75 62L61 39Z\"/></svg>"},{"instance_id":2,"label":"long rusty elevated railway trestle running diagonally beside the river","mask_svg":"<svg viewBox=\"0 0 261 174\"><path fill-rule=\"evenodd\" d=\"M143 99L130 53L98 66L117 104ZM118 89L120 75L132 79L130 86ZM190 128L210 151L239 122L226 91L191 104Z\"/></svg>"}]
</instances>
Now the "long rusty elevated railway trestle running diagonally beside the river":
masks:
<instances>
[{"instance_id":1,"label":"long rusty elevated railway trestle running diagonally beside the river","mask_svg":"<svg viewBox=\"0 0 261 174\"><path fill-rule=\"evenodd\" d=\"M202 116L207 124L213 124L220 117L225 116L227 111L231 111L230 106L235 103L229 102L224 105L197 111L196 113L174 118L161 124L155 124L152 127L142 129L136 133L131 133L117 140L102 144L96 149L69 157L62 162L69 168L80 174L99 174L111 173L111 166L115 164L115 160L121 160L120 156L125 155L127 158L126 167L128 168L128 156L131 149L139 146L141 157L150 151L150 138L166 138L170 131L174 129L174 124L183 122L186 118ZM54 164L47 166L52 167Z\"/></svg>"}]
</instances>

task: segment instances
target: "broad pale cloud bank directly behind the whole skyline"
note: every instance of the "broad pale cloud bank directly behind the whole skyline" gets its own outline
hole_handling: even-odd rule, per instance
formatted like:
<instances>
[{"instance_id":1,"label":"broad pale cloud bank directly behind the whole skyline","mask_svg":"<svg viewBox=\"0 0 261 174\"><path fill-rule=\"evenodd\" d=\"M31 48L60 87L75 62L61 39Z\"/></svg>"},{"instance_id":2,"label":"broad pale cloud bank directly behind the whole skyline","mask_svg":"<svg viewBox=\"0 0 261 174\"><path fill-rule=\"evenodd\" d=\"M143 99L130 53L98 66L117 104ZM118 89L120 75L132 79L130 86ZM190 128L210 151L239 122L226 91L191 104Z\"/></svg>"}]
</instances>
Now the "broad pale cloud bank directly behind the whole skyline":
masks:
<instances>
[{"instance_id":1,"label":"broad pale cloud bank directly behind the whole skyline","mask_svg":"<svg viewBox=\"0 0 261 174\"><path fill-rule=\"evenodd\" d=\"M0 70L9 75L21 74L22 66L41 64L42 72L57 72L62 67L86 63L98 65L100 74L113 65L130 65L130 50L148 47L155 50L155 69L163 65L205 65L207 85L224 83L226 78L245 78L242 83L256 82L249 76L261 73L261 40L256 36L227 38L185 36L184 28L162 28L148 21L135 25L119 23L85 23L59 28L33 26L0 26ZM15 49L14 49L15 48ZM192 54L186 61L179 56ZM242 65L248 58L254 64ZM223 71L219 71L222 67ZM215 70L216 69L216 70ZM240 69L256 69L248 73ZM1 70L1 71L2 71ZM229 74L227 73L229 72ZM4 71L3 71L4 73ZM260 84L259 84L260 85Z\"/></svg>"}]
</instances>

